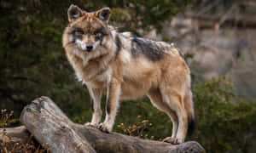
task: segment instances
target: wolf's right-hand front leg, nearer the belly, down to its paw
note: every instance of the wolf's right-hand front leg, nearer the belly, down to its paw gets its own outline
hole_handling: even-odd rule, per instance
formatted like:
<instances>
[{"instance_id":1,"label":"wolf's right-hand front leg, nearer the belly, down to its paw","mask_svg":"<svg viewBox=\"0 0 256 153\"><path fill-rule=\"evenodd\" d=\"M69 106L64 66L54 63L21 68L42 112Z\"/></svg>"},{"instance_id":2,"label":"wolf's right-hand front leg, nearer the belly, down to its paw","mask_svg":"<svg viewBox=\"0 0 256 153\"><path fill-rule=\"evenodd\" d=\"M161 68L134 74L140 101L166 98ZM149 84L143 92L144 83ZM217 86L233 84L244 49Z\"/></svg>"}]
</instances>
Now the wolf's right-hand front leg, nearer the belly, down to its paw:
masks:
<instances>
[{"instance_id":1,"label":"wolf's right-hand front leg, nearer the belly, down to its paw","mask_svg":"<svg viewBox=\"0 0 256 153\"><path fill-rule=\"evenodd\" d=\"M120 82L117 79L112 79L108 84L107 102L106 102L106 118L98 128L102 132L110 132L113 129L113 124L116 116L116 111L119 107Z\"/></svg>"}]
</instances>

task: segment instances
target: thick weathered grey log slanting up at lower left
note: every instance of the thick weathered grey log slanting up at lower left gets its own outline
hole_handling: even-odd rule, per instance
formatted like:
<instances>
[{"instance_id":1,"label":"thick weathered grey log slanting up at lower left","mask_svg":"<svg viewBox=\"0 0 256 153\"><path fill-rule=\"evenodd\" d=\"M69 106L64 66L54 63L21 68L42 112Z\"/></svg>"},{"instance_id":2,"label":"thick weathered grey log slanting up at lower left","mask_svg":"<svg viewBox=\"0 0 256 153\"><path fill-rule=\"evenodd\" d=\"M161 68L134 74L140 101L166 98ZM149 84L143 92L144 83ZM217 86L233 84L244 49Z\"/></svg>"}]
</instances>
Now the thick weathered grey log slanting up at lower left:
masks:
<instances>
[{"instance_id":1,"label":"thick weathered grey log slanting up at lower left","mask_svg":"<svg viewBox=\"0 0 256 153\"><path fill-rule=\"evenodd\" d=\"M40 144L47 144L51 152L96 153L87 140L74 131L67 116L46 97L27 105L21 112L20 122Z\"/></svg>"}]
</instances>

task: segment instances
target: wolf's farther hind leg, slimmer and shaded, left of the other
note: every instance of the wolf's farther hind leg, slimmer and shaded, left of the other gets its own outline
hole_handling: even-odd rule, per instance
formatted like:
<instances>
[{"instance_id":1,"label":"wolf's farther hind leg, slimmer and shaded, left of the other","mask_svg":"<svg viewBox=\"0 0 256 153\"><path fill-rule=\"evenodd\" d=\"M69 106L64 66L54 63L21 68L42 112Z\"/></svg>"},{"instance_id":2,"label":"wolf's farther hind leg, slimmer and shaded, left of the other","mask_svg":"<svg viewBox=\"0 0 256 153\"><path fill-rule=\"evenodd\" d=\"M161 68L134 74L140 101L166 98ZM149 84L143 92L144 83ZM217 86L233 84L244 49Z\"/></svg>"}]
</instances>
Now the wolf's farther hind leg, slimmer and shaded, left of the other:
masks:
<instances>
[{"instance_id":1,"label":"wolf's farther hind leg, slimmer and shaded, left of the other","mask_svg":"<svg viewBox=\"0 0 256 153\"><path fill-rule=\"evenodd\" d=\"M160 89L150 89L148 92L148 97L151 101L151 103L158 108L160 111L165 112L168 116L170 116L172 120L172 139L174 140L177 135L177 116L175 111L172 111L172 109L169 107L168 104L166 104L163 101L163 97L160 94Z\"/></svg>"}]
</instances>

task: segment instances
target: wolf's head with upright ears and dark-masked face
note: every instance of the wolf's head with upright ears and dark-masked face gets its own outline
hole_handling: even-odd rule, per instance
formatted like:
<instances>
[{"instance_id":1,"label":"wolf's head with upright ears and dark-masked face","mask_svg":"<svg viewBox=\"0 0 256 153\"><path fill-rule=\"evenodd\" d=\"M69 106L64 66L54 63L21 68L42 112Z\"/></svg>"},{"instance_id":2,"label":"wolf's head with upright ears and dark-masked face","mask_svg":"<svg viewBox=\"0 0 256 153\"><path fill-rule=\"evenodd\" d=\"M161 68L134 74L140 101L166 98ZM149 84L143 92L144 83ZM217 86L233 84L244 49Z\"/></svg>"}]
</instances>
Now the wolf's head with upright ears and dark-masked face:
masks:
<instances>
[{"instance_id":1,"label":"wolf's head with upright ears and dark-masked face","mask_svg":"<svg viewBox=\"0 0 256 153\"><path fill-rule=\"evenodd\" d=\"M72 4L67 11L69 26L65 30L66 41L63 43L72 43L87 53L105 46L111 38L108 28L110 14L109 8L88 13Z\"/></svg>"}]
</instances>

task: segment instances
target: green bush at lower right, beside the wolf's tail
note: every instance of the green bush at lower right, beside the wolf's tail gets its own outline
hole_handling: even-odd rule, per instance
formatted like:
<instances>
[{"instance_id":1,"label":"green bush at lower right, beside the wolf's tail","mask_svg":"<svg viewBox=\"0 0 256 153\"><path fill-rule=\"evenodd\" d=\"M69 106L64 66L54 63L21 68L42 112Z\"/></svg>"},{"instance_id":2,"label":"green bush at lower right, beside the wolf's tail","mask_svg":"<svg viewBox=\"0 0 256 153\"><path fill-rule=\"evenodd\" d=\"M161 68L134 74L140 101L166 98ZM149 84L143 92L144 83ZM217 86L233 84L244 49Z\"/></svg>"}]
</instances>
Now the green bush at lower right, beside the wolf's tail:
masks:
<instances>
[{"instance_id":1,"label":"green bush at lower right, beside the wolf's tail","mask_svg":"<svg viewBox=\"0 0 256 153\"><path fill-rule=\"evenodd\" d=\"M256 126L255 105L239 99L224 78L196 85L194 95L198 121L194 139L207 152L247 152L246 134Z\"/></svg>"}]
</instances>

